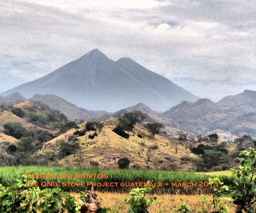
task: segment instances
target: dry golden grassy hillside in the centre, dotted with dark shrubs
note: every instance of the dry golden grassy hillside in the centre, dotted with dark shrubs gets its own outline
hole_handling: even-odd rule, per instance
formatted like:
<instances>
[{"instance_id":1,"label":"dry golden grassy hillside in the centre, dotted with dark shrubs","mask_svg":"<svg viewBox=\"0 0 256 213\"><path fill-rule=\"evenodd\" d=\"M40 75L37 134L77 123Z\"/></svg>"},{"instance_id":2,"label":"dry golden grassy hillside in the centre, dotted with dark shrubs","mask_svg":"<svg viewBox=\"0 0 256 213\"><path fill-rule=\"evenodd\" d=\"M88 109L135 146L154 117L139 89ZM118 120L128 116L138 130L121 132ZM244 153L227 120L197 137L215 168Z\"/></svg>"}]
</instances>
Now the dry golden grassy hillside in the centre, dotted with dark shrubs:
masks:
<instances>
[{"instance_id":1,"label":"dry golden grassy hillside in the centre, dotted with dark shrubs","mask_svg":"<svg viewBox=\"0 0 256 213\"><path fill-rule=\"evenodd\" d=\"M78 137L80 143L79 157L76 155L69 155L58 163L61 166L72 165L77 166L77 161L82 162L82 166L90 166L90 161L97 161L102 168L118 168L117 161L121 157L128 157L131 161L130 166L139 165L142 169L150 167L150 169L163 169L173 167L179 171L193 170L191 162L183 163L181 165L181 157L189 156L191 158L197 158L198 156L190 153L189 149L185 150L186 145L182 145L176 138L166 138L156 135L155 139L150 138L149 132L141 125L136 125L134 128L135 133L130 133L130 138L125 139L117 135L112 131L115 127L117 120L110 119L105 121L104 128L94 139L89 139L89 134L93 134L93 131L86 132L85 136ZM80 128L83 129L85 124L81 124ZM58 138L48 141L43 147L45 150L57 150L55 148L55 142L58 139L65 139L68 136L73 135L74 129L62 134ZM137 137L137 134L145 135L145 138ZM144 142L145 147L140 147L139 143ZM178 153L175 153L175 143L177 143ZM157 144L159 149L155 151L155 155L150 159L148 164L146 150L148 147ZM51 146L50 146L51 145ZM143 150L144 149L144 150ZM170 160L165 159L170 158ZM162 160L163 163L159 163Z\"/></svg>"}]
</instances>

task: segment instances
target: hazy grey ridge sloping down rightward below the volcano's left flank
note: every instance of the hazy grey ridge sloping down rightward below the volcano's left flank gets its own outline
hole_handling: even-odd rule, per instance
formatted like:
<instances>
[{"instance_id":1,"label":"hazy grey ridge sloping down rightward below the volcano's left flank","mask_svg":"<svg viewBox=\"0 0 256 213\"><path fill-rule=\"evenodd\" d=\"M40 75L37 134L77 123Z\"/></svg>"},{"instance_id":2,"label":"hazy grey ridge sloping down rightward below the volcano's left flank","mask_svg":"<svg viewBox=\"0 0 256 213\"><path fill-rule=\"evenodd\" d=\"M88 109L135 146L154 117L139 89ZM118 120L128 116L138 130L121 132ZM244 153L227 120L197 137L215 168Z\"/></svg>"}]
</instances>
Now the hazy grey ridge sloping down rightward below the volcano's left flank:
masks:
<instances>
[{"instance_id":1,"label":"hazy grey ridge sloping down rightward below the volcano's left flank","mask_svg":"<svg viewBox=\"0 0 256 213\"><path fill-rule=\"evenodd\" d=\"M53 109L57 109L63 114L65 114L69 120L75 119L83 119L85 121L89 120L100 120L101 116L104 118L109 115L105 111L90 111L87 109L79 108L74 104L69 103L68 101L64 100L55 95L34 95L32 98L29 99L30 101L41 101L42 103L48 105ZM111 116L108 116L111 117Z\"/></svg>"}]
</instances>

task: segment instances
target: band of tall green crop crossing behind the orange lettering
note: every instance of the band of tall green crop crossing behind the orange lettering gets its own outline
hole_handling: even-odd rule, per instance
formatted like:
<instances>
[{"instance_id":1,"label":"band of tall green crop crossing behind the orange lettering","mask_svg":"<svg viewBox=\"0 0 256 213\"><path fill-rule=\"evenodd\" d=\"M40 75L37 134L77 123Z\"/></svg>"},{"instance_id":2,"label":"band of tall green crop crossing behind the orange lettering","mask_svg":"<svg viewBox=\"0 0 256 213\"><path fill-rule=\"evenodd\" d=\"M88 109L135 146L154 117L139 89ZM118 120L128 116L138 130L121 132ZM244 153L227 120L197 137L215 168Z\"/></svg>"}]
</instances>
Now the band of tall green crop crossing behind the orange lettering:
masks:
<instances>
[{"instance_id":1,"label":"band of tall green crop crossing behind the orange lettering","mask_svg":"<svg viewBox=\"0 0 256 213\"><path fill-rule=\"evenodd\" d=\"M15 179L22 180L22 175L30 172L40 174L53 174L54 178L42 178L35 179L39 183L43 181L55 181L60 185L63 191L77 192L78 190L85 190L80 186L66 186L63 187L61 183L67 182L147 182L153 181L156 183L171 183L171 182L193 182L199 183L200 181L208 181L208 178L218 177L225 184L231 183L231 176L229 172L215 172L215 173L195 173L195 172L167 172L167 171L151 171L151 170L103 170L98 168L86 168L86 167L42 167L42 166L18 166L18 167L0 167L0 183L3 186L10 186L15 182ZM107 179L85 179L75 178L75 173L82 174L104 174L108 175ZM58 178L57 178L58 174ZM70 179L61 179L62 174L71 174ZM65 177L65 175L63 176ZM50 188L50 187L48 187ZM128 192L134 187L96 187L98 191L110 191L110 192ZM201 194L210 192L209 187L172 187L171 184L163 187L156 187L155 193L169 193L169 194Z\"/></svg>"}]
</instances>

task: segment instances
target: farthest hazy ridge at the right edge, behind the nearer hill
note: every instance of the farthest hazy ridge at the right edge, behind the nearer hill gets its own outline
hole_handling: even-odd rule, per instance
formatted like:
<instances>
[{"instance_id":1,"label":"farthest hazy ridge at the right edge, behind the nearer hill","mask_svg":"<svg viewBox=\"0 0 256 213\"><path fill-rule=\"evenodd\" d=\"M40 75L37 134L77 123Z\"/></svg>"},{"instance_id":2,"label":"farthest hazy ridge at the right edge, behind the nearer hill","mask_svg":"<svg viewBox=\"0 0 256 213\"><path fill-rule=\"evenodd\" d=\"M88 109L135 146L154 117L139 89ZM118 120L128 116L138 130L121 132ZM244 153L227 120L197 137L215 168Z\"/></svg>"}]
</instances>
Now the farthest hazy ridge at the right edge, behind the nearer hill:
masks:
<instances>
[{"instance_id":1,"label":"farthest hazy ridge at the right edge, behind the nearer hill","mask_svg":"<svg viewBox=\"0 0 256 213\"><path fill-rule=\"evenodd\" d=\"M246 112L256 112L256 91L244 90L235 96L227 96L221 99L220 106L234 107Z\"/></svg>"}]
</instances>

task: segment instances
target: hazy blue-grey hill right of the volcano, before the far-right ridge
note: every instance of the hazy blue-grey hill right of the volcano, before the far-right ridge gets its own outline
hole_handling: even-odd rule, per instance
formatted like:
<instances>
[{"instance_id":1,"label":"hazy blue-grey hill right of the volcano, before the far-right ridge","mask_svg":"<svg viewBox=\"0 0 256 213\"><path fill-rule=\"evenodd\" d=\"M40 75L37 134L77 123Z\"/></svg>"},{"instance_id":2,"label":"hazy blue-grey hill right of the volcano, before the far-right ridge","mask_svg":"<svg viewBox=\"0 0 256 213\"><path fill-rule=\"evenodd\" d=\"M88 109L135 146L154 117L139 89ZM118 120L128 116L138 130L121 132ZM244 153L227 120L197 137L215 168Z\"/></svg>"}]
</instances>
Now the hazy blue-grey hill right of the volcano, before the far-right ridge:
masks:
<instances>
[{"instance_id":1,"label":"hazy blue-grey hill right of the volcano, before the far-right ridge","mask_svg":"<svg viewBox=\"0 0 256 213\"><path fill-rule=\"evenodd\" d=\"M195 103L183 101L162 116L171 120L171 127L194 134L224 130L256 136L255 113L245 114L235 108L219 106L209 99L199 99Z\"/></svg>"}]
</instances>

